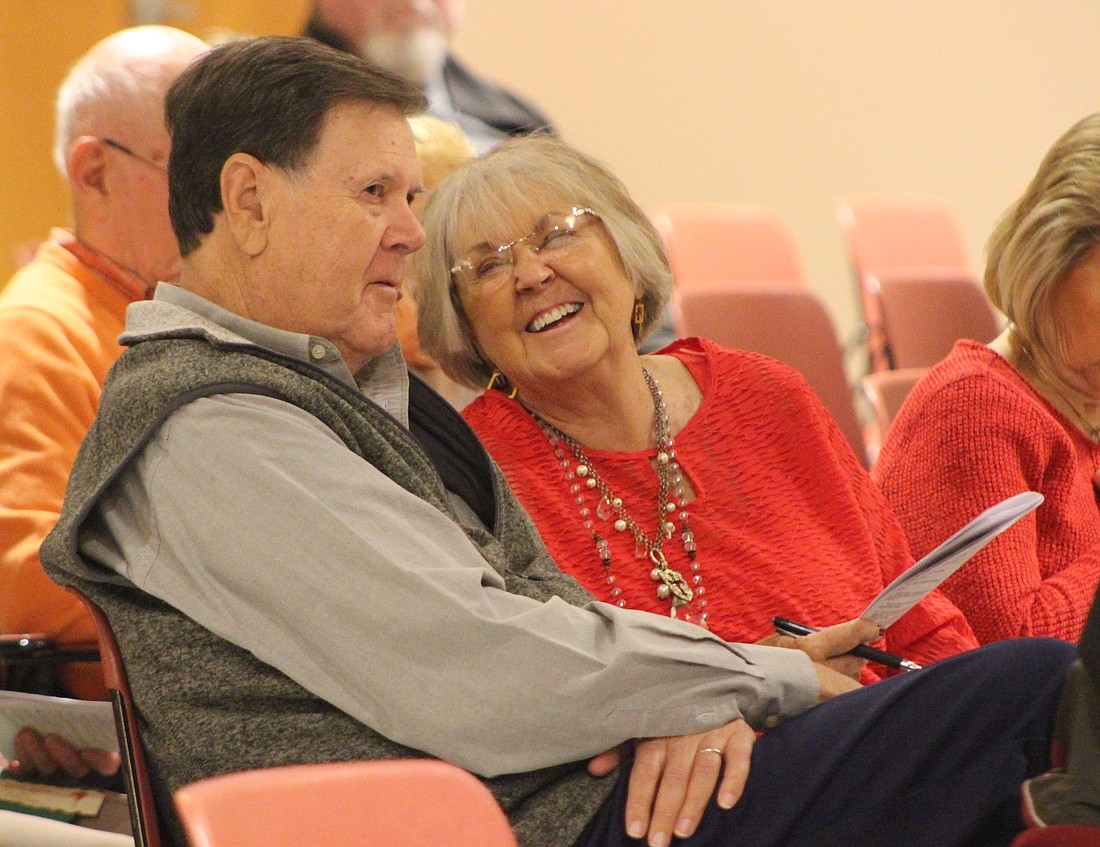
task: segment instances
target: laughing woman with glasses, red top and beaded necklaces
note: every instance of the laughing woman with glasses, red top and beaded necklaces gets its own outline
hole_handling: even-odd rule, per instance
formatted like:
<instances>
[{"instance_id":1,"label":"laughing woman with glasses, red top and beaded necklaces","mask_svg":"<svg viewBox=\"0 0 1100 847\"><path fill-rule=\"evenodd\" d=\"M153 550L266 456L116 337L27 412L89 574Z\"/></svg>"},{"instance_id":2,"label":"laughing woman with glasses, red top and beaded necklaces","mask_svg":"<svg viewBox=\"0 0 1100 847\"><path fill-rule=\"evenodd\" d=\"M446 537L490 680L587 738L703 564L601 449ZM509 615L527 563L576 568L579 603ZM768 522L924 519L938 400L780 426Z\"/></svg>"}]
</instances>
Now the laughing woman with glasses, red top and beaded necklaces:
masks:
<instances>
[{"instance_id":1,"label":"laughing woman with glasses, red top and beaded necklaces","mask_svg":"<svg viewBox=\"0 0 1100 847\"><path fill-rule=\"evenodd\" d=\"M805 381L702 339L639 355L671 273L622 184L549 139L436 188L414 256L420 336L559 565L598 600L734 641L773 615L857 617L912 562ZM927 663L976 646L933 594L878 646ZM864 680L887 673L864 669Z\"/></svg>"}]
</instances>

